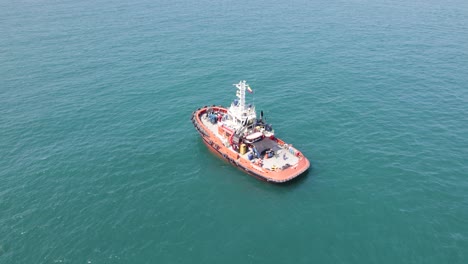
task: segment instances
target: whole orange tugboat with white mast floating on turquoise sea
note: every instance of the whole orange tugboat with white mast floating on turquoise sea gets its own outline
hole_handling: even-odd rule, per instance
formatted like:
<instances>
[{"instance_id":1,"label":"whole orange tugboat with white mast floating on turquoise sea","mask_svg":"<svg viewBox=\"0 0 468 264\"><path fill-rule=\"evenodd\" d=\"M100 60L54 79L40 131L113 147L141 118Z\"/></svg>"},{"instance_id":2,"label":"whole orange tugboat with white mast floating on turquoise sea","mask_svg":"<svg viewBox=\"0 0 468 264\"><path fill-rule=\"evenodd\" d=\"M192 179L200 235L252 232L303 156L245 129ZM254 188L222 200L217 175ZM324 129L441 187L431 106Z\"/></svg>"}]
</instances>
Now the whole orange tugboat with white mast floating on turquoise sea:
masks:
<instances>
[{"instance_id":1,"label":"whole orange tugboat with white mast floating on turquoise sea","mask_svg":"<svg viewBox=\"0 0 468 264\"><path fill-rule=\"evenodd\" d=\"M192 123L213 153L261 180L282 183L303 174L309 160L291 144L275 136L271 124L257 118L255 107L246 104L246 81L234 84L236 96L228 108L204 106L192 114Z\"/></svg>"}]
</instances>

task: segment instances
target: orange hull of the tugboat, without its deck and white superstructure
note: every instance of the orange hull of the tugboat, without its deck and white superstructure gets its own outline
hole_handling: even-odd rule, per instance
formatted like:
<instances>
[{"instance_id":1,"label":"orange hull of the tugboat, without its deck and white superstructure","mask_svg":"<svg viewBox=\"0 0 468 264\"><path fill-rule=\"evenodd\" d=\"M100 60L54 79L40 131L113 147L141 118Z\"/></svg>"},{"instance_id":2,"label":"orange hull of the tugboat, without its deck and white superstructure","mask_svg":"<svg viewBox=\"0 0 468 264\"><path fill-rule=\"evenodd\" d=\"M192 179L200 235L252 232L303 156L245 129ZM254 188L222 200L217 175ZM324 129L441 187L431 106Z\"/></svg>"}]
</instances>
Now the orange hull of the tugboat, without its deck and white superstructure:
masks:
<instances>
[{"instance_id":1,"label":"orange hull of the tugboat, without its deck and white superstructure","mask_svg":"<svg viewBox=\"0 0 468 264\"><path fill-rule=\"evenodd\" d=\"M258 179L268 181L268 182L276 182L282 183L290 181L309 169L310 163L309 160L302 155L301 152L297 151L297 157L299 159L298 163L294 166L285 168L285 169L266 169L262 168L258 164L251 162L248 159L242 158L238 153L230 150L226 147L221 139L217 137L212 130L205 126L205 124L201 120L201 116L205 114L208 109L213 109L215 111L220 111L226 113L228 110L222 106L205 106L203 108L199 108L197 111L193 112L191 120L198 131L200 136L203 139L203 142L211 150L220 158L226 160L233 166L239 168L240 170L246 172L247 174L254 176ZM284 145L281 139L274 138L278 144Z\"/></svg>"}]
</instances>

